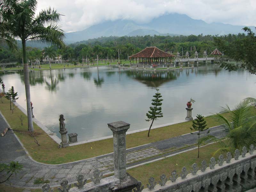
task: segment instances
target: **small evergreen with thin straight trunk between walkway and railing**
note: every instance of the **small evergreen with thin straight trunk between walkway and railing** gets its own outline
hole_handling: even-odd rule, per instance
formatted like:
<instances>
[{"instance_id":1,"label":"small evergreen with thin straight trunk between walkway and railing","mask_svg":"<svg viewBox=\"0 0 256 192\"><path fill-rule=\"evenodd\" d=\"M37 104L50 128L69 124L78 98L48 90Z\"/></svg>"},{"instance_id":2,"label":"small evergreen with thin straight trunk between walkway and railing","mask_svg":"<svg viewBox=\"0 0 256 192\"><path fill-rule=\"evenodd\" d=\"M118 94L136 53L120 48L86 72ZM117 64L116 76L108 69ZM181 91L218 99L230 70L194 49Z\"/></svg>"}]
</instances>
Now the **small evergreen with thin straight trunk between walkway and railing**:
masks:
<instances>
[{"instance_id":1,"label":"small evergreen with thin straight trunk between walkway and railing","mask_svg":"<svg viewBox=\"0 0 256 192\"><path fill-rule=\"evenodd\" d=\"M206 124L206 121L204 121L204 116L197 115L196 119L192 121L192 128L190 128L190 129L191 129L191 131L198 131L197 135L198 135L198 139L199 139L200 134L201 134L200 132L209 129L209 128L205 128L206 126L207 126L207 124ZM209 133L209 132L210 131L208 131L207 133ZM193 133L191 132L191 134L193 134ZM200 145L199 141L197 141L197 144L198 144L197 158L199 158L199 145Z\"/></svg>"}]
</instances>

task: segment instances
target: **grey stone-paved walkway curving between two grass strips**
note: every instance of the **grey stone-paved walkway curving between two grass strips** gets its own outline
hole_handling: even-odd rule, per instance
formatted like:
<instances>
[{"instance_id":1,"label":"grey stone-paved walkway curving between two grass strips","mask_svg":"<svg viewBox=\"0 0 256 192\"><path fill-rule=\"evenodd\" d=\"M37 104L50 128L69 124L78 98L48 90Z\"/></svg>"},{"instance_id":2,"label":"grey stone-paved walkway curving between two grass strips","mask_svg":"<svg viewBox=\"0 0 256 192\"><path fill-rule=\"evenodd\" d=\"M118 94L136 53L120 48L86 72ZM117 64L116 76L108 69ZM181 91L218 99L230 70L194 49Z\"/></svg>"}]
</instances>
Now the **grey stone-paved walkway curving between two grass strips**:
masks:
<instances>
[{"instance_id":1,"label":"grey stone-paved walkway curving between two grass strips","mask_svg":"<svg viewBox=\"0 0 256 192\"><path fill-rule=\"evenodd\" d=\"M8 125L0 114L0 132L3 132L5 127L8 127ZM218 138L224 136L224 132L220 129L220 126L213 127L210 130L211 135L215 135ZM197 137L197 134L186 134L127 149L127 167L129 168L194 148L195 146L191 145L196 143ZM55 186L60 185L61 180L64 178L67 179L69 183L75 182L78 174L83 174L85 178L90 178L95 169L99 169L104 174L113 172L113 154L97 156L67 164L41 164L29 158L24 148L20 145L20 142L10 131L8 131L4 137L0 137L0 146L0 163L18 161L23 165L22 171L20 171L16 177L12 176L10 180L6 181L6 184L12 186L27 188L41 187L42 184L34 184L36 178L49 180L50 185ZM3 175L0 173L0 180L2 179Z\"/></svg>"}]
</instances>

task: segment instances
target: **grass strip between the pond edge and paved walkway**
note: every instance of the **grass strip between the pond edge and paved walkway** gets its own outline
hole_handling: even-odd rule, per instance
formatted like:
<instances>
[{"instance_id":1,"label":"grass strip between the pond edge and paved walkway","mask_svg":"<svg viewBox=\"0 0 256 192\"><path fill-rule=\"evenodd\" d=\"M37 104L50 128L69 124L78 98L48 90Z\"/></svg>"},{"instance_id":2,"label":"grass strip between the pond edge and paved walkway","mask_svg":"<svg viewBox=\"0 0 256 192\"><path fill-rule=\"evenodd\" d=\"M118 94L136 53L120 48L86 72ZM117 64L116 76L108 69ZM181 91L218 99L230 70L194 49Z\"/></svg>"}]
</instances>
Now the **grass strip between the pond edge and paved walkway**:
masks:
<instances>
[{"instance_id":1,"label":"grass strip between the pond edge and paved walkway","mask_svg":"<svg viewBox=\"0 0 256 192\"><path fill-rule=\"evenodd\" d=\"M2 98L3 103L0 102L0 111L10 124L11 128L20 131L27 131L28 122L27 118L24 119L23 126L20 124L18 116L23 114L19 108L12 111L10 110L9 100ZM19 100L18 100L19 101ZM253 110L255 114L255 110ZM24 114L23 114L24 115ZM228 116L228 114L224 114ZM213 127L221 124L216 116L205 117L208 127ZM192 122L184 122L179 124L173 124L150 131L150 137L147 137L148 131L137 132L127 135L127 148L136 147L139 145L155 142L158 140L164 140L185 133L189 133ZM40 146L37 146L34 139L26 134L16 132L16 135L20 138L21 142L28 150L30 156L38 162L46 164L60 164L86 159L94 156L99 156L113 152L113 139L105 139L85 143L76 146L70 146L68 148L57 148L58 144L52 140L40 127L34 123L35 132L39 133L36 136ZM7 133L9 134L9 133ZM82 152L82 153L81 153Z\"/></svg>"}]
</instances>

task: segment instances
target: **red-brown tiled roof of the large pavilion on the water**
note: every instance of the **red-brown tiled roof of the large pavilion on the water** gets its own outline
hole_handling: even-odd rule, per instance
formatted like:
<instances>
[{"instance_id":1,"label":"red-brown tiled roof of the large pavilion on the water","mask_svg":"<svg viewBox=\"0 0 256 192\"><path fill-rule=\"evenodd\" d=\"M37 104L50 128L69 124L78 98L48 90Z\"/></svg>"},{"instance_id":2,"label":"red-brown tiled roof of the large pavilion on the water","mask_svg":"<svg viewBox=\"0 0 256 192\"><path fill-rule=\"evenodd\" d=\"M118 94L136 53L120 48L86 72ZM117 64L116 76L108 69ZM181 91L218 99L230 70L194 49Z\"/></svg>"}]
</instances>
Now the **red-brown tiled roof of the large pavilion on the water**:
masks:
<instances>
[{"instance_id":1,"label":"red-brown tiled roof of the large pavilion on the water","mask_svg":"<svg viewBox=\"0 0 256 192\"><path fill-rule=\"evenodd\" d=\"M129 58L141 58L141 57L175 57L175 55L172 55L170 53L166 53L157 47L146 47L142 51L130 56Z\"/></svg>"}]
</instances>

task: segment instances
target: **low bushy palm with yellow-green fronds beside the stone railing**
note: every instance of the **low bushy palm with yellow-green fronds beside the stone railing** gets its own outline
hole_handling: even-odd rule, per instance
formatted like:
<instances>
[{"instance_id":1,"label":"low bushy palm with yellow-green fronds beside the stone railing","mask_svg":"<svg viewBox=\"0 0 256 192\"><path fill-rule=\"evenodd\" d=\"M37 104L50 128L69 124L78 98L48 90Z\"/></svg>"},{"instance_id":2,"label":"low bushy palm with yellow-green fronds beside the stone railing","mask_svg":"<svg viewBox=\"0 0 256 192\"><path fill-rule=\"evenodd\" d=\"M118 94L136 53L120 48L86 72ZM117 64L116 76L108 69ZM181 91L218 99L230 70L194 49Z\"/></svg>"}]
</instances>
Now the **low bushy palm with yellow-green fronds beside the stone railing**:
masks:
<instances>
[{"instance_id":1,"label":"low bushy palm with yellow-green fronds beside the stone railing","mask_svg":"<svg viewBox=\"0 0 256 192\"><path fill-rule=\"evenodd\" d=\"M228 106L226 108L222 107L221 113L230 113L230 120L221 115L221 113L217 114L224 122L222 125L223 131L226 133L224 140L208 135L199 139L199 143L204 143L205 141L219 143L221 148L215 151L215 154L222 151L233 153L236 149L241 150L243 146L249 148L251 144L255 144L256 117L252 116L250 107L251 105L247 100L241 101L233 110Z\"/></svg>"}]
</instances>

